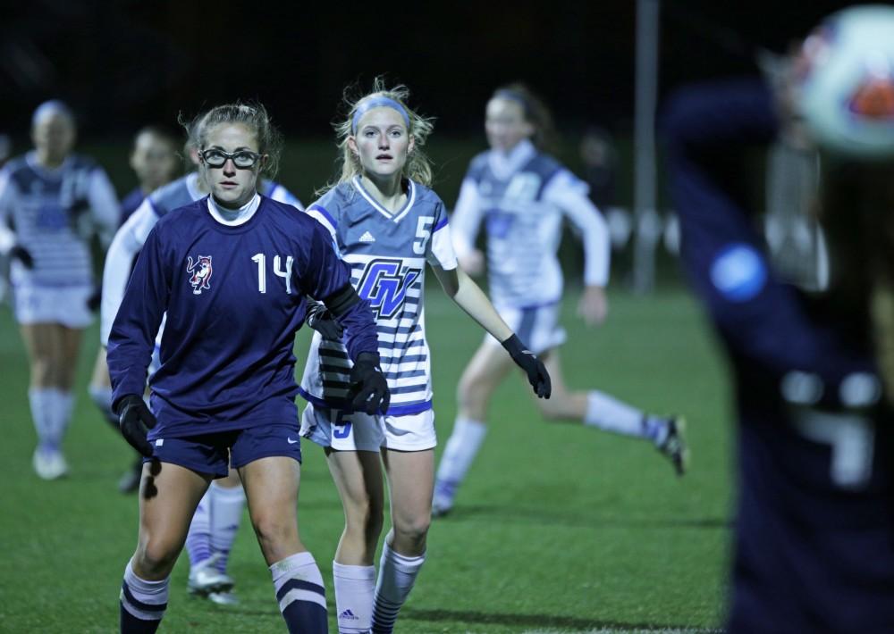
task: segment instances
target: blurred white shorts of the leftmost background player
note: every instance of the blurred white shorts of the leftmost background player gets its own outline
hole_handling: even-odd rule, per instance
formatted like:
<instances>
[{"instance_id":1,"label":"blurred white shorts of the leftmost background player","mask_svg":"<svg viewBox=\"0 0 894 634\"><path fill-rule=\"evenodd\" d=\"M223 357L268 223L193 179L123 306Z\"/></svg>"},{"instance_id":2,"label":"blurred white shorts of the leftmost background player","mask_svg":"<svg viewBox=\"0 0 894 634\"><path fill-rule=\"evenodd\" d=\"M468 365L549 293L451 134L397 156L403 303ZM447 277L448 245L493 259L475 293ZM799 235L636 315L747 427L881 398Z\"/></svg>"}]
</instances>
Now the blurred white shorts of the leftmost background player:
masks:
<instances>
[{"instance_id":1,"label":"blurred white shorts of the leftmost background player","mask_svg":"<svg viewBox=\"0 0 894 634\"><path fill-rule=\"evenodd\" d=\"M87 306L92 294L91 286L16 284L13 287L15 319L23 325L61 323L68 328L87 328L93 322L93 313Z\"/></svg>"}]
</instances>

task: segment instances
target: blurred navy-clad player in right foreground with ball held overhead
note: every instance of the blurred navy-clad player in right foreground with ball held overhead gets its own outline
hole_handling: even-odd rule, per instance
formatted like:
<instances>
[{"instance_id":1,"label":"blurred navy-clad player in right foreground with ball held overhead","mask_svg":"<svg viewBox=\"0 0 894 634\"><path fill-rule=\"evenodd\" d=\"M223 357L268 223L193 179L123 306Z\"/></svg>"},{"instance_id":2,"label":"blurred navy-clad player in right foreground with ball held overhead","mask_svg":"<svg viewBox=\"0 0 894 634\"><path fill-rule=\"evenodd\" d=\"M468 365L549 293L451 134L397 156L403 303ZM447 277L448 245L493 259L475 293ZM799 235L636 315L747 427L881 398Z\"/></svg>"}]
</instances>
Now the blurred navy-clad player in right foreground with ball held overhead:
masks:
<instances>
[{"instance_id":1,"label":"blurred navy-clad player in right foreground with ball held overhead","mask_svg":"<svg viewBox=\"0 0 894 634\"><path fill-rule=\"evenodd\" d=\"M803 51L777 90L756 79L681 88L662 120L682 263L737 395L727 631L890 632L894 9L834 15ZM822 150L822 295L772 267L747 171L730 164L804 123Z\"/></svg>"}]
</instances>

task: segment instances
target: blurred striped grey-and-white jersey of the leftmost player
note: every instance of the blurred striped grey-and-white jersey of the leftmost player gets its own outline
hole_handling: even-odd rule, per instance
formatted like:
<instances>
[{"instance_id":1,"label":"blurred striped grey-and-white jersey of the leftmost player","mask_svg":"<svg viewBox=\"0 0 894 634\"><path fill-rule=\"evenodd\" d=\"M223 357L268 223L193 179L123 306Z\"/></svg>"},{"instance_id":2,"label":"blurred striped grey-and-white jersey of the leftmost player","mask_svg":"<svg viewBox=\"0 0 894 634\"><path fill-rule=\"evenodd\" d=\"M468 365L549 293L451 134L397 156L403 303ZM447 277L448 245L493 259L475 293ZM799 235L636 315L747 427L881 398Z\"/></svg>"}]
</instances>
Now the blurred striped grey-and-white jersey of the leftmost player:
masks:
<instances>
[{"instance_id":1,"label":"blurred striped grey-and-white jersey of the leftmost player","mask_svg":"<svg viewBox=\"0 0 894 634\"><path fill-rule=\"evenodd\" d=\"M72 154L54 170L30 152L0 171L0 253L25 248L34 268L12 263L13 284L40 287L93 283L90 237L108 245L121 207L105 171Z\"/></svg>"}]
</instances>

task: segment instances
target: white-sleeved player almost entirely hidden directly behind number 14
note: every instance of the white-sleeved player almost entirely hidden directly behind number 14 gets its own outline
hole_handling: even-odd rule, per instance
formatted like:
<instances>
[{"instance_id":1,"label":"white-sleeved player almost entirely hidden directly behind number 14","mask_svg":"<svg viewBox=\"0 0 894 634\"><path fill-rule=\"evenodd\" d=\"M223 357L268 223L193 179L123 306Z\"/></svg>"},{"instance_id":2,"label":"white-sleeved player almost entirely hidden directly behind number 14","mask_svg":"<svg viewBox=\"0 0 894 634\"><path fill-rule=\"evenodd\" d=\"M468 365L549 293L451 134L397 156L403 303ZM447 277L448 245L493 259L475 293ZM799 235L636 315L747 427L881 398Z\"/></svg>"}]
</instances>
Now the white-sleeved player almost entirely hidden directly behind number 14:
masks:
<instances>
[{"instance_id":1,"label":"white-sleeved player almost entirely hidden directly behind number 14","mask_svg":"<svg viewBox=\"0 0 894 634\"><path fill-rule=\"evenodd\" d=\"M195 165L198 165L199 161L197 143L195 134L190 131L185 152L190 157L190 163ZM299 199L283 185L273 180L259 179L258 186L264 196L277 202L291 204L297 211L304 209ZM100 342L104 346L108 341L108 333L112 328L115 314L121 305L124 289L131 277L131 263L146 242L149 231L168 212L207 194L207 186L200 178L199 172L190 172L147 196L137 211L131 214L115 234L105 257L103 274L102 320L99 334ZM159 330L156 346L160 344L161 338L162 330ZM154 371L155 368L156 363L150 367L150 371ZM109 407L111 408L111 400ZM131 478L122 478L124 485L122 490L128 492L139 488L141 475L142 460L138 459L131 472ZM230 549L239 530L244 508L245 496L236 471L231 470L228 477L211 483L207 494L198 505L186 541L187 552L190 555L190 593L207 596L219 604L236 603L235 594L222 588L232 588L233 585L233 580L226 570Z\"/></svg>"}]
</instances>

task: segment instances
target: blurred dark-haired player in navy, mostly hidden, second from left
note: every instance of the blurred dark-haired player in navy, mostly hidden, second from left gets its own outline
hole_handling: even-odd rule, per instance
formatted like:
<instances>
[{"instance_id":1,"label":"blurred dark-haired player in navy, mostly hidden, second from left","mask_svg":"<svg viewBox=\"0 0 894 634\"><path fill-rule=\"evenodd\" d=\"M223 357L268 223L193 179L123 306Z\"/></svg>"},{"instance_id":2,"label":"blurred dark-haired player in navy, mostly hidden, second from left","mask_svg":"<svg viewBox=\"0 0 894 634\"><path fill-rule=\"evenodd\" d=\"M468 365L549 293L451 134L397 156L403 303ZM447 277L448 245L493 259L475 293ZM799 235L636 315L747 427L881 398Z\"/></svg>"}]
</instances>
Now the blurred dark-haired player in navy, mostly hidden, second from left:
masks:
<instances>
[{"instance_id":1,"label":"blurred dark-haired player in navy, mostly hidden, second from left","mask_svg":"<svg viewBox=\"0 0 894 634\"><path fill-rule=\"evenodd\" d=\"M139 130L133 139L131 150L131 168L137 175L139 185L122 200L122 222L131 216L146 196L176 178L181 164L177 155L180 144L180 139L170 129L146 126ZM105 419L117 430L118 417L112 412L112 383L109 381L109 371L105 365L105 346L99 347L97 361L93 366L93 377L90 379L89 393ZM132 493L139 488L142 464L142 459L138 455L134 466L124 471L118 482L118 489L122 493Z\"/></svg>"}]
</instances>

